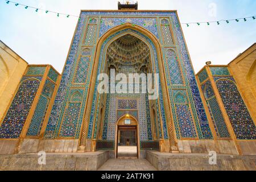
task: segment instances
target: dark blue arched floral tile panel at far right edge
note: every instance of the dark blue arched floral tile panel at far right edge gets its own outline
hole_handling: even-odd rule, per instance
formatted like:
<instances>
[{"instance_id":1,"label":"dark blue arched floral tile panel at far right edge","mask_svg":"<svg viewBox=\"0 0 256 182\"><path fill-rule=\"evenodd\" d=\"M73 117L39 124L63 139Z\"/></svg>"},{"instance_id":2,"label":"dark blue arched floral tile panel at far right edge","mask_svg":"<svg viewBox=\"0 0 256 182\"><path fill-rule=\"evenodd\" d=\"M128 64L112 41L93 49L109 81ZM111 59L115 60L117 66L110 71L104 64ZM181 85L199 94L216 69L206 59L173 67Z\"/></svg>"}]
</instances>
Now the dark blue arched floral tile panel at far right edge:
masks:
<instances>
[{"instance_id":1,"label":"dark blue arched floral tile panel at far right edge","mask_svg":"<svg viewBox=\"0 0 256 182\"><path fill-rule=\"evenodd\" d=\"M216 85L237 139L256 139L255 124L236 84L220 79Z\"/></svg>"}]
</instances>

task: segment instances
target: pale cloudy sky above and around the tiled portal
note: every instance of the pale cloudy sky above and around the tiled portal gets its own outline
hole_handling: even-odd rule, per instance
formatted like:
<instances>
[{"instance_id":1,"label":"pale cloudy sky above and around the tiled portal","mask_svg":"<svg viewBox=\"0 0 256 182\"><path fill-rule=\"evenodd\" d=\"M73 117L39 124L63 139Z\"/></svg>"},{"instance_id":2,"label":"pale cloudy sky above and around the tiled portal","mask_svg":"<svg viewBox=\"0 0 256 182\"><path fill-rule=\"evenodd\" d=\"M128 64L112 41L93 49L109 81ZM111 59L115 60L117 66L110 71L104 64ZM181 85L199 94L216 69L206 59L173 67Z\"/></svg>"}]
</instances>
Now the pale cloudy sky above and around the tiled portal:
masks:
<instances>
[{"instance_id":1,"label":"pale cloudy sky above and around the tiled portal","mask_svg":"<svg viewBox=\"0 0 256 182\"><path fill-rule=\"evenodd\" d=\"M116 0L13 0L28 6L79 15L80 10L117 10ZM122 2L122 0L121 0ZM255 0L138 0L139 10L177 10L181 23L256 16ZM0 40L29 64L51 64L63 71L76 17L24 9L0 0ZM256 42L256 20L182 26L193 68L206 61L228 64Z\"/></svg>"}]
</instances>

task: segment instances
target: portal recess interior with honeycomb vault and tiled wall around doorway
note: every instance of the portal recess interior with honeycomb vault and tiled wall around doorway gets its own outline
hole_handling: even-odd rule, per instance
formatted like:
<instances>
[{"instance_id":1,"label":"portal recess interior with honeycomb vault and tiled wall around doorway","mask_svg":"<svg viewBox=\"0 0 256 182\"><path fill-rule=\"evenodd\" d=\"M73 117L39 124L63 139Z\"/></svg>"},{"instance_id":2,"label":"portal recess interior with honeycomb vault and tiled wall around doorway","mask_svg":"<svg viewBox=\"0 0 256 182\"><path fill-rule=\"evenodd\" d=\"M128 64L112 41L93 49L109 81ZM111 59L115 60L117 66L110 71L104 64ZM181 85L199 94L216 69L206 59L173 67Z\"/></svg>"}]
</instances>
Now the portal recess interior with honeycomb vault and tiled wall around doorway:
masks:
<instances>
[{"instance_id":1,"label":"portal recess interior with honeycomb vault and tiled wall around doorway","mask_svg":"<svg viewBox=\"0 0 256 182\"><path fill-rule=\"evenodd\" d=\"M143 40L131 34L119 36L106 47L105 71L110 78L110 69L115 69L115 73L151 73L151 50ZM118 82L118 81L117 81ZM141 87L141 85L139 85ZM135 87L135 84L134 84ZM135 90L135 89L134 89ZM102 96L103 97L103 96ZM115 93L106 94L106 99L101 99L106 106L104 114L104 131L102 139L115 140L115 125L118 118L123 115L133 115L139 125L139 139L152 140L151 129L151 108L147 94L144 93ZM152 101L153 102L153 101ZM155 101L154 101L155 102ZM156 108L155 108L156 110ZM98 120L100 121L100 120ZM100 124L102 125L102 124Z\"/></svg>"}]
</instances>

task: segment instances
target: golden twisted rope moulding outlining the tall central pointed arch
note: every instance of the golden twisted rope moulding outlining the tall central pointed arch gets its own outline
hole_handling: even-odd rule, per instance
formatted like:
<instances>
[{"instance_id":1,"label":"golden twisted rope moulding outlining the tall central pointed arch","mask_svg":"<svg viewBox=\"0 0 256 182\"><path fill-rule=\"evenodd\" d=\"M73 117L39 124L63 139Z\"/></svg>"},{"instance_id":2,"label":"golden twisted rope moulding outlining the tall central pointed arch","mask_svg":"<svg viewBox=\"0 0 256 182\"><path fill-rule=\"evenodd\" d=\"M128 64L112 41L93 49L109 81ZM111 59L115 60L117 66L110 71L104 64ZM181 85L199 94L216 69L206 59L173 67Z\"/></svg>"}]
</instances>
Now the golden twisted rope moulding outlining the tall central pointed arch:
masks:
<instances>
[{"instance_id":1,"label":"golden twisted rope moulding outlining the tall central pointed arch","mask_svg":"<svg viewBox=\"0 0 256 182\"><path fill-rule=\"evenodd\" d=\"M125 24L122 24L120 26L113 27L108 32L106 32L104 35L102 35L101 38L98 40L97 45L96 45L97 52L94 55L93 70L97 70L97 68L99 66L99 60L100 60L100 56L101 56L101 51L100 50L101 50L101 47L104 44L105 40L107 40L110 36L112 36L114 34L117 34L118 32L125 31L125 30L133 30L135 32L138 32L137 34L135 34L135 36L137 36L137 37L138 37L139 34L141 34L143 36L146 36L146 38L148 40L150 40L152 42L152 44L154 45L155 52L156 52L155 59L158 60L158 61L157 61L157 63L153 62L152 67L154 67L154 68L157 67L158 68L157 71L160 74L159 80L160 80L161 88L162 88L162 89L160 89L160 96L169 97L169 95L167 94L168 93L167 81L166 81L166 78L164 77L165 73L164 73L163 60L162 60L163 53L162 53L162 49L161 49L161 46L160 46L160 42L155 37L154 34L152 34L150 31L146 30L143 27L133 25L131 23L125 23ZM115 36L115 38L117 38L117 36ZM155 66L155 64L156 64L156 66ZM154 69L154 72L156 72L155 69ZM85 111L85 117L84 117L83 122L89 122L90 121L90 113L92 111L92 107L94 108L94 105L92 104L92 102L93 102L92 97L93 97L94 89L95 89L95 86L96 86L96 81L94 81L97 77L96 74L97 74L97 71L92 73L92 79L93 80L90 82L90 86L89 86L90 90L89 90L89 93L88 93L89 94L88 98L90 98L90 99L86 104L86 109L85 109L86 111ZM98 100L98 98L96 98L96 101L97 100ZM175 138L175 135L174 135L174 129L173 129L173 124L172 124L172 120L171 120L170 100L168 100L168 99L163 100L163 98L159 98L159 102L160 102L161 106L160 106L160 104L158 104L158 107L159 107L160 113L162 114L162 115L160 115L160 120L163 122L162 125L161 125L161 128L163 130L163 127L166 127L166 125L168 124L167 127L168 127L168 130L169 130L167 132L166 131L162 132L162 134L160 135L160 138L163 138L166 135L167 135L167 138L168 138L168 135L170 135L171 136L170 140L172 140L172 143L175 143L174 140L176 138ZM88 133L88 129L92 125L93 125L92 123L86 123L86 124L83 123L81 137L80 137L80 146L85 146L85 141L86 141L87 135L89 136L90 134L92 134L92 131L90 131ZM88 126L90 126L90 127L88 127Z\"/></svg>"}]
</instances>

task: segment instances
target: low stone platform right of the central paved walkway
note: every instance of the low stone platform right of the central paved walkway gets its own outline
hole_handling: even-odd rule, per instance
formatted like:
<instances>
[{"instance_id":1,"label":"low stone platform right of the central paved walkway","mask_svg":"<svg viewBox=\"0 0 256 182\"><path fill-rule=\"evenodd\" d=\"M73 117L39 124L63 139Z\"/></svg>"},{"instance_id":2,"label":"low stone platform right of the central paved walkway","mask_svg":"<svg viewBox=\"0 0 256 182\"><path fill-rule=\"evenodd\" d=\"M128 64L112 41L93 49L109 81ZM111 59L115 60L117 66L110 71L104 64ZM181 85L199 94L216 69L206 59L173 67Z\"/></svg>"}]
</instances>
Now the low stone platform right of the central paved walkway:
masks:
<instances>
[{"instance_id":1,"label":"low stone platform right of the central paved walkway","mask_svg":"<svg viewBox=\"0 0 256 182\"><path fill-rule=\"evenodd\" d=\"M160 171L255 171L256 156L217 154L217 164L209 164L208 154L171 154L147 151L146 159Z\"/></svg>"}]
</instances>

